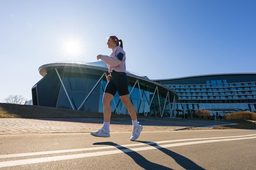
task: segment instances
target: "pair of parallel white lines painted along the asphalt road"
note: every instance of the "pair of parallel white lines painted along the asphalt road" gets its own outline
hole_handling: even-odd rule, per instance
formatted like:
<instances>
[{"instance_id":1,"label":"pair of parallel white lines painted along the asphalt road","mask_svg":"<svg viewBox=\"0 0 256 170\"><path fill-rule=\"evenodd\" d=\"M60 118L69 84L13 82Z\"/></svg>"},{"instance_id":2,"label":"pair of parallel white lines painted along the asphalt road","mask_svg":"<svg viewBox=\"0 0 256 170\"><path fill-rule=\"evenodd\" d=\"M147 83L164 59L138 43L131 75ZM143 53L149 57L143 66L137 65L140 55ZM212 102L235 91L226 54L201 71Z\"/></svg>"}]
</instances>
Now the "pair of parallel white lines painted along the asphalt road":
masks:
<instances>
[{"instance_id":1,"label":"pair of parallel white lines painted along the asphalt road","mask_svg":"<svg viewBox=\"0 0 256 170\"><path fill-rule=\"evenodd\" d=\"M90 152L90 153L81 153L81 154L72 154L72 155L63 155L63 156L21 159L21 160L16 160L16 161L2 161L2 162L0 162L0 167L19 166L19 165L26 165L26 164L33 164L33 163L61 161L61 160L67 160L67 159L78 159L78 158L95 157L95 156L101 156L101 155L112 155L112 154L117 154L117 153L137 152L137 151L142 151L142 150L171 148L171 147L175 147L175 146L186 146L186 145L193 145L193 144L204 144L204 143L211 143L211 142L234 141L234 140L255 139L255 138L256 138L256 134L243 135L243 136L231 136L231 137L178 139L178 140L170 140L170 141L148 142L148 143L143 143L143 144L128 144L128 145L122 145L122 146L120 146L120 145L103 146L103 147L94 147L94 148L81 148L81 149L71 149L71 150L55 150L55 151L46 151L46 152L31 152L31 153L0 155L0 159L2 159L2 158L8 158L8 157L24 157L24 156L33 156L33 155L45 155L45 154L65 153L65 152L79 152L79 151L87 151L87 150L101 150L101 149L109 149L109 148L123 148L123 147L129 147L129 146L141 146L141 145L145 146L145 145L157 144L155 146L145 146L145 147L132 148L132 149L127 148L127 149L101 151L101 152ZM201 140L201 141L195 141L195 140ZM163 144L163 143L171 143L171 142L177 142L177 141L190 141L190 142L159 145L159 144Z\"/></svg>"}]
</instances>

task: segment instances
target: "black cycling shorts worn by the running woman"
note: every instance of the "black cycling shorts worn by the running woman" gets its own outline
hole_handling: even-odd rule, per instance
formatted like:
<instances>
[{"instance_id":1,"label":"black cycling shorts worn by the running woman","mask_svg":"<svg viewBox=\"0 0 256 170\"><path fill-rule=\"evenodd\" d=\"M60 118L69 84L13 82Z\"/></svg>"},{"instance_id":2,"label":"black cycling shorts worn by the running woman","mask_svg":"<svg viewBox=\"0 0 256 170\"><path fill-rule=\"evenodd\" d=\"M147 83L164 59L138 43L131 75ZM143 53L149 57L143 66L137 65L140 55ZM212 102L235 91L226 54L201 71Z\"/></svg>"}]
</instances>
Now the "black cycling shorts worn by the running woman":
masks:
<instances>
[{"instance_id":1,"label":"black cycling shorts worn by the running woman","mask_svg":"<svg viewBox=\"0 0 256 170\"><path fill-rule=\"evenodd\" d=\"M128 77L124 72L112 71L110 81L106 85L104 93L110 93L113 96L118 92L119 96L128 95Z\"/></svg>"}]
</instances>

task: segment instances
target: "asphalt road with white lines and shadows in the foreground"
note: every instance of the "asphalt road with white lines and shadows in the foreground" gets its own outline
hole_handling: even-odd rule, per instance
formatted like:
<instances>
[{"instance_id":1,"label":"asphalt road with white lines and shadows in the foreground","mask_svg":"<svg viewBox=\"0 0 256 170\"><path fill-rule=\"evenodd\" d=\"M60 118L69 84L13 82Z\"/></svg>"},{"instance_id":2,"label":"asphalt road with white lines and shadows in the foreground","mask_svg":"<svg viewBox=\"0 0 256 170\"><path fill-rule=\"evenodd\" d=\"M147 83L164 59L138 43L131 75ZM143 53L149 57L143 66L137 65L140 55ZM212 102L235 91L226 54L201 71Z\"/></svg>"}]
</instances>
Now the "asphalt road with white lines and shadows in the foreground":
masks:
<instances>
[{"instance_id":1,"label":"asphalt road with white lines and shadows in the foreground","mask_svg":"<svg viewBox=\"0 0 256 170\"><path fill-rule=\"evenodd\" d=\"M4 170L254 170L255 130L0 135Z\"/></svg>"}]
</instances>

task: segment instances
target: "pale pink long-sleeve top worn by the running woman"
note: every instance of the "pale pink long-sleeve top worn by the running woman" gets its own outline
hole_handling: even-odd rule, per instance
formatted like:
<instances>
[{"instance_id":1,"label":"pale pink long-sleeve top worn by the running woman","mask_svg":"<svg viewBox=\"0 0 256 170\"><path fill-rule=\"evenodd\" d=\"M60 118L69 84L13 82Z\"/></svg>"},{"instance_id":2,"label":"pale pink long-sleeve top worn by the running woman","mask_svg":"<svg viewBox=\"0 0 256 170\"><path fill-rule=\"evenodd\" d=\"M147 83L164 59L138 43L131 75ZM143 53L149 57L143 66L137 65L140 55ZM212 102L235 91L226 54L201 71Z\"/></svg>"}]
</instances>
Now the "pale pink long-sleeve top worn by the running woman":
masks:
<instances>
[{"instance_id":1,"label":"pale pink long-sleeve top worn by the running woman","mask_svg":"<svg viewBox=\"0 0 256 170\"><path fill-rule=\"evenodd\" d=\"M124 54L122 60L119 60L117 58L117 55L119 53ZM124 72L124 73L126 72L126 65L125 65L126 56L121 46L116 46L114 49L112 49L112 53L110 54L110 56L102 55L101 60L107 64L109 73L112 73L113 70L117 72Z\"/></svg>"}]
</instances>

